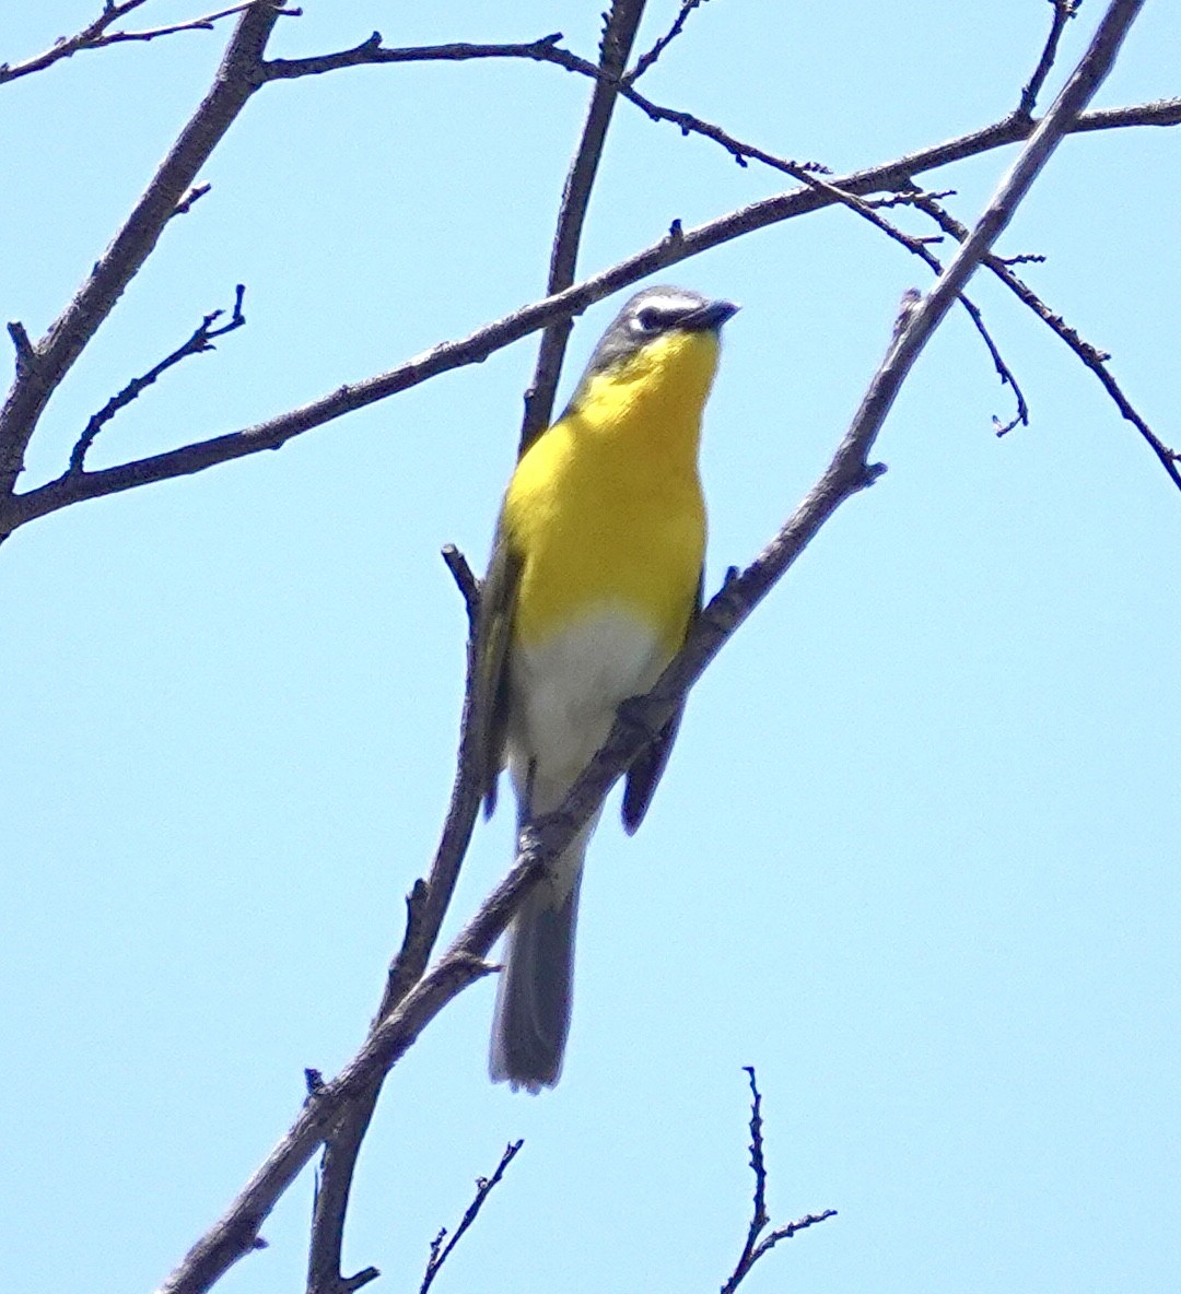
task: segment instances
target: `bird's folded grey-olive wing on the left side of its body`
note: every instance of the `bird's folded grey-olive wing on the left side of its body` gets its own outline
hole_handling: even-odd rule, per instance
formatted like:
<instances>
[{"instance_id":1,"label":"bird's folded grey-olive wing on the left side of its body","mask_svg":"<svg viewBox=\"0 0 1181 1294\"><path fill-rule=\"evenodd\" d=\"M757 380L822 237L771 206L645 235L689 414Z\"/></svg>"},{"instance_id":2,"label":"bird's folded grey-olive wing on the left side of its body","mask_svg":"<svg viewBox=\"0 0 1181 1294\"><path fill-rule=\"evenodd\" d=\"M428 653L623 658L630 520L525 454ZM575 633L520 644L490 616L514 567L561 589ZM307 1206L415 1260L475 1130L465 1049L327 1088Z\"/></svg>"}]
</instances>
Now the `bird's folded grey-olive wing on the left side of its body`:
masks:
<instances>
[{"instance_id":1,"label":"bird's folded grey-olive wing on the left side of its body","mask_svg":"<svg viewBox=\"0 0 1181 1294\"><path fill-rule=\"evenodd\" d=\"M509 638L519 576L521 559L512 551L508 536L497 528L492 560L480 586L470 717L480 761L486 817L491 817L496 807L496 782L504 767L509 722Z\"/></svg>"}]
</instances>

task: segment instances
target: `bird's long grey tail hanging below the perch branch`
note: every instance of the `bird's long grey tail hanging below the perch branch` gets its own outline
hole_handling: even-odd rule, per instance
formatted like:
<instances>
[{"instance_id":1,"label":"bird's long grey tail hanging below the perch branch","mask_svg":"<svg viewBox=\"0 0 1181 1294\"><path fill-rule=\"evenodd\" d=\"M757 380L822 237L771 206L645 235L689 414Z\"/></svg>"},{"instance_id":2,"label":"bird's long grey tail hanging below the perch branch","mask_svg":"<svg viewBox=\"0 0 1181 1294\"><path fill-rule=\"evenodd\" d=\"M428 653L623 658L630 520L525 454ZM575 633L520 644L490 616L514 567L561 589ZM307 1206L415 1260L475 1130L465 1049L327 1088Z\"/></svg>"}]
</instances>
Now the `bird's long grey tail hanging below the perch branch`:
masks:
<instances>
[{"instance_id":1,"label":"bird's long grey tail hanging below the perch branch","mask_svg":"<svg viewBox=\"0 0 1181 1294\"><path fill-rule=\"evenodd\" d=\"M562 1073L574 994L574 930L592 824L579 832L509 927L496 990L488 1070L513 1091L540 1092Z\"/></svg>"}]
</instances>

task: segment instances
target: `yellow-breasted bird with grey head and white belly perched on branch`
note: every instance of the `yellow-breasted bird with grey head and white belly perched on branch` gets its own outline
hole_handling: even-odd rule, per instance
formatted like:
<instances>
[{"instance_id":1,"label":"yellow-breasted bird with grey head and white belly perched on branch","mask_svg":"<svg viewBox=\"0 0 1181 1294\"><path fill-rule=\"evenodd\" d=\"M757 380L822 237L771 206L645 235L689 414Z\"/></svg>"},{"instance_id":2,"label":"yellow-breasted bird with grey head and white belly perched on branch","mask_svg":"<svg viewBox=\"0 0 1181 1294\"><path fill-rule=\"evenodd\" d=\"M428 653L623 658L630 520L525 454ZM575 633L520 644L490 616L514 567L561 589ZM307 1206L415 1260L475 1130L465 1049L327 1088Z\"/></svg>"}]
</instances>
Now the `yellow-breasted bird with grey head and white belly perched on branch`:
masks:
<instances>
[{"instance_id":1,"label":"yellow-breasted bird with grey head and white belly perched on branch","mask_svg":"<svg viewBox=\"0 0 1181 1294\"><path fill-rule=\"evenodd\" d=\"M702 414L721 327L737 309L681 287L637 292L603 333L561 418L517 462L480 587L471 722L486 813L506 766L518 831L561 806L620 704L651 688L701 611ZM625 773L629 835L664 771L681 709ZM562 1071L579 885L601 813L508 929L488 1069L514 1091L553 1087Z\"/></svg>"}]
</instances>

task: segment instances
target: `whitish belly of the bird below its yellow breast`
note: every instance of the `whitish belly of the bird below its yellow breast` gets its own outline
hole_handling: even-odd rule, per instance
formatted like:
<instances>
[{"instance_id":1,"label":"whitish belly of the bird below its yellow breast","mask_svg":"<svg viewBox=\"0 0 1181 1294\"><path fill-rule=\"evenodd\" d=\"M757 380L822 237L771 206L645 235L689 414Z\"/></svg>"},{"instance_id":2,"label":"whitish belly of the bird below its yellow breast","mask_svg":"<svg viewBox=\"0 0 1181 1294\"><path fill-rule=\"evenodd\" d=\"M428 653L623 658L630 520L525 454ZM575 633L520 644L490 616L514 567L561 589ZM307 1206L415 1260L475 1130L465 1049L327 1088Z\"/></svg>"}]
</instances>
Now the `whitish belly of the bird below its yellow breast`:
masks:
<instances>
[{"instance_id":1,"label":"whitish belly of the bird below its yellow breast","mask_svg":"<svg viewBox=\"0 0 1181 1294\"><path fill-rule=\"evenodd\" d=\"M619 703L646 692L667 661L657 633L631 608L594 608L539 647L514 647L509 769L532 811L549 813L607 739Z\"/></svg>"}]
</instances>

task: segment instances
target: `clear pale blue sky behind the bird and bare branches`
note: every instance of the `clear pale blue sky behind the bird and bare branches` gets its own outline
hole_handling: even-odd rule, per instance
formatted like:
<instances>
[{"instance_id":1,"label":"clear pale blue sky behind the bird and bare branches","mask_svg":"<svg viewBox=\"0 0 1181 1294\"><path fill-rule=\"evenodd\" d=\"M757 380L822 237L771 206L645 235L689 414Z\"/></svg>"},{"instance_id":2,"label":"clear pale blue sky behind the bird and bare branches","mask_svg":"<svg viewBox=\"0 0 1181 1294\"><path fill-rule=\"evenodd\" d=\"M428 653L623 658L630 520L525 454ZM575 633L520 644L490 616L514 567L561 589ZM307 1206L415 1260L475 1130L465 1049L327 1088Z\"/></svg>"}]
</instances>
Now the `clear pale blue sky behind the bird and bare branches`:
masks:
<instances>
[{"instance_id":1,"label":"clear pale blue sky behind the bird and bare branches","mask_svg":"<svg viewBox=\"0 0 1181 1294\"><path fill-rule=\"evenodd\" d=\"M590 53L597 6L445 16L311 0L275 49L523 40ZM0 58L96 3L10 5ZM653 4L646 47L671 21ZM152 23L192 17L159 0ZM1101 13L1068 30L1072 62ZM838 172L1001 118L1041 0L715 0L646 93ZM146 22L144 23L146 25ZM0 91L0 308L44 331L199 101L215 34L79 56ZM1105 105L1178 93L1149 4ZM1052 85L1059 83L1055 79ZM552 67L430 65L268 87L54 399L27 481L247 285L249 325L101 435L113 463L243 426L535 299L589 91ZM928 177L973 219L1011 153ZM1178 136L1074 138L1006 234L1031 283L1178 430ZM620 107L581 267L780 190ZM927 272L843 211L667 276L733 298L707 417L708 582L809 487ZM590 851L566 1074L486 1078L493 986L391 1077L350 1269L417 1289L504 1144L524 1149L436 1289L721 1284L764 1092L777 1220L839 1218L751 1294L1154 1294L1181 1277L1181 496L1097 382L976 282L1033 423L963 317L923 355L848 503L694 692L640 835ZM618 302L578 325L570 389ZM0 550L0 906L8 1187L30 1294L152 1289L284 1131L302 1070L360 1042L451 784L464 615L530 342L278 454L87 503ZM501 875L482 827L451 928ZM232 1294L300 1289L306 1175Z\"/></svg>"}]
</instances>

